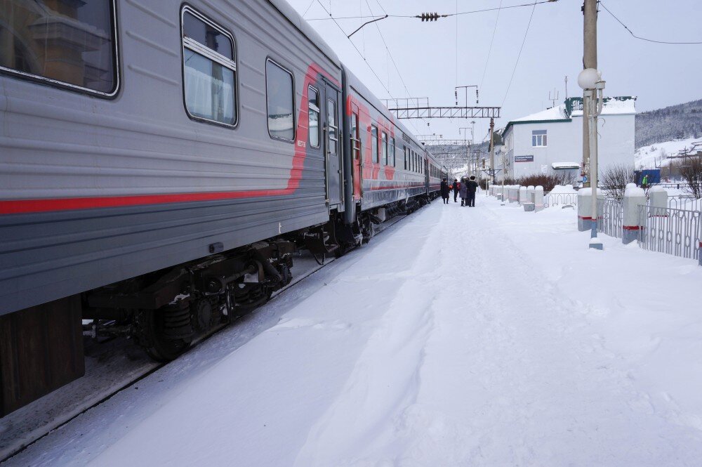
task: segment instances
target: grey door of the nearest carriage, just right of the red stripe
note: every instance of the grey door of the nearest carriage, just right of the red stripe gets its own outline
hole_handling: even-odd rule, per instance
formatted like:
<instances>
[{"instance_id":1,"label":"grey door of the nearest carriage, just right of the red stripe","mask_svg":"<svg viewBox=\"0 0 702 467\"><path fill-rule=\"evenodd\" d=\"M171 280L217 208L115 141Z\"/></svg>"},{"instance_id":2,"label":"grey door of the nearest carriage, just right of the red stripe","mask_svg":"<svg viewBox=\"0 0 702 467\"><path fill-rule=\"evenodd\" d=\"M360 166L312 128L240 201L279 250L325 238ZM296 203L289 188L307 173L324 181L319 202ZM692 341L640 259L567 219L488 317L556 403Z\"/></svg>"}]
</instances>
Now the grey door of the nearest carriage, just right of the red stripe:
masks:
<instances>
[{"instance_id":1,"label":"grey door of the nearest carriage, just right of the red stripe","mask_svg":"<svg viewBox=\"0 0 702 467\"><path fill-rule=\"evenodd\" d=\"M343 204L343 166L341 164L341 131L340 131L340 91L326 84L326 198L329 206Z\"/></svg>"}]
</instances>

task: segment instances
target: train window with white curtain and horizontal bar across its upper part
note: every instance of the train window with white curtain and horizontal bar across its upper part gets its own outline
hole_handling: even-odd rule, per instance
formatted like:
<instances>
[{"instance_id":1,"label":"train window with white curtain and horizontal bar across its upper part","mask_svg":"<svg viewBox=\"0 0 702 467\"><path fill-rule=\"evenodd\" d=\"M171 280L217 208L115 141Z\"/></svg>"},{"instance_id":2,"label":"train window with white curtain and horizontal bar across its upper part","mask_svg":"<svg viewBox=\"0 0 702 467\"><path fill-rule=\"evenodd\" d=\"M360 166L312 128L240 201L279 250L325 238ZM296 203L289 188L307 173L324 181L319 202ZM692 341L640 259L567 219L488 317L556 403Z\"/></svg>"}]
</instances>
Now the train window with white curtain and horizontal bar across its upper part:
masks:
<instances>
[{"instance_id":1,"label":"train window with white curtain and horizontal bar across its upper part","mask_svg":"<svg viewBox=\"0 0 702 467\"><path fill-rule=\"evenodd\" d=\"M234 39L190 8L183 8L183 88L190 117L237 124Z\"/></svg>"}]
</instances>

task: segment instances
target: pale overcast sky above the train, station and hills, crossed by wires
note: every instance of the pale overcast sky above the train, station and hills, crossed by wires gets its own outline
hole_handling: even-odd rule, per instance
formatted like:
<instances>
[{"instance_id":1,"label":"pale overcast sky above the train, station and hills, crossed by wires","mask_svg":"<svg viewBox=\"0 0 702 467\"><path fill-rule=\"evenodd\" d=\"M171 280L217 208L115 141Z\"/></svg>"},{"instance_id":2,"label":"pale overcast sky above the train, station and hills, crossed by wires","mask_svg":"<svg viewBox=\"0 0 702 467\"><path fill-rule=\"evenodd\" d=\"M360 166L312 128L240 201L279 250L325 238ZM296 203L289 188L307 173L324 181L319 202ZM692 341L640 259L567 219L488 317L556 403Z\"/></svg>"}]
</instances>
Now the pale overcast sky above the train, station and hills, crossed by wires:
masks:
<instances>
[{"instance_id":1,"label":"pale overcast sky above the train, station and hills, crossed by wires","mask_svg":"<svg viewBox=\"0 0 702 467\"><path fill-rule=\"evenodd\" d=\"M430 98L430 105L454 105L454 88L479 85L479 105L502 106L502 127L510 119L550 107L549 92L565 97L581 95L577 85L583 60L582 0L558 0L536 7L504 8L531 4L531 0L288 0L336 51L343 63L380 98L404 98L407 91L390 55L402 74L409 96ZM539 0L541 1L541 0ZM321 4L320 4L321 2ZM416 18L386 18L366 25L351 39L364 54L373 75L350 41L331 20L312 20L332 15L383 14L416 15L423 12L456 13L496 8L489 11L421 22ZM322 8L324 5L324 8ZM701 0L607 0L604 5L637 36L660 41L702 41ZM529 33L515 70L519 48L529 24ZM305 13L305 11L307 13ZM338 20L346 34L369 18ZM377 27L376 27L377 26ZM653 44L632 37L600 7L598 65L607 81L607 96L637 96L637 110L684 103L702 98L702 44ZM378 28L380 32L378 32ZM380 37L383 34L390 54ZM491 52L490 44L494 33ZM512 71L514 79L508 91ZM459 103L465 103L459 91ZM475 104L475 89L469 105ZM465 119L405 120L418 134L437 133L444 138L459 136ZM486 136L489 120L477 119L475 140Z\"/></svg>"}]
</instances>

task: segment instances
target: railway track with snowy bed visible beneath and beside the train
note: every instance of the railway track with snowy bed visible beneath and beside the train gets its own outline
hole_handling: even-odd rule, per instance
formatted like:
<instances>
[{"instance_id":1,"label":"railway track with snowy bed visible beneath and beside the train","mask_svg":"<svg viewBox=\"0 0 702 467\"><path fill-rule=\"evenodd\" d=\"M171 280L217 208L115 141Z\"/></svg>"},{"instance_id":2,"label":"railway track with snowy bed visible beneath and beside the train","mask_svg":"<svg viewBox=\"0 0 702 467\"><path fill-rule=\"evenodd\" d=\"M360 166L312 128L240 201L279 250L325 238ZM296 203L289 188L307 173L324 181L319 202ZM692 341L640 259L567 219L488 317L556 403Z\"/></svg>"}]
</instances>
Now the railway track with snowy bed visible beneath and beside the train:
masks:
<instances>
[{"instance_id":1,"label":"railway track with snowy bed visible beneath and beside the train","mask_svg":"<svg viewBox=\"0 0 702 467\"><path fill-rule=\"evenodd\" d=\"M376 235L380 235L406 216L396 216L379 225ZM317 258L319 259L319 258ZM340 258L343 259L343 258ZM293 280L283 289L276 291L268 303L286 294L296 284L314 275L322 268L335 262L336 258L326 258L321 265L305 251L294 259ZM199 348L202 343L220 335L227 330L235 332L237 326L256 320L256 312L237 319L230 325L223 325L206 336L201 336L185 355ZM251 338L265 331L277 322L277 317L262 320L254 326L253 332L237 345L241 346ZM227 351L235 350L237 347ZM60 429L67 423L90 409L110 400L128 388L136 387L139 381L170 364L177 364L185 355L173 362L159 363L150 360L142 348L126 338L113 338L108 341L86 341L86 374L53 393L18 409L0 419L0 463L19 454L27 447L44 438L53 430Z\"/></svg>"}]
</instances>

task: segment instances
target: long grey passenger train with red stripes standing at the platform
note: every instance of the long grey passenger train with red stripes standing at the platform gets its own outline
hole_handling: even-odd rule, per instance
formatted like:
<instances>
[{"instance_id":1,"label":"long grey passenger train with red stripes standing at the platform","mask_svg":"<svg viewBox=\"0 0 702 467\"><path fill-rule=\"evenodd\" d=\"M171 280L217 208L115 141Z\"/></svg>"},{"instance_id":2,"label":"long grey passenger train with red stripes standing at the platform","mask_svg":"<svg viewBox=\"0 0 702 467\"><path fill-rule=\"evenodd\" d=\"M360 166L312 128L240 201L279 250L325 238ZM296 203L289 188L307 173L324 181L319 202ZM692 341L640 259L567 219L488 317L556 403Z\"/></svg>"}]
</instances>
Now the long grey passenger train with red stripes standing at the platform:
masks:
<instances>
[{"instance_id":1,"label":"long grey passenger train with red stripes standing at the platform","mask_svg":"<svg viewBox=\"0 0 702 467\"><path fill-rule=\"evenodd\" d=\"M83 320L172 360L447 176L285 0L8 0L0 38L0 416Z\"/></svg>"}]
</instances>

